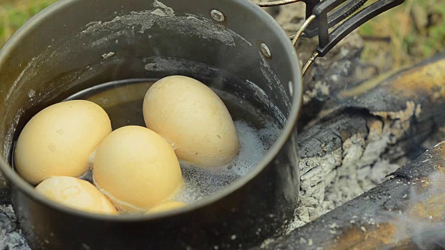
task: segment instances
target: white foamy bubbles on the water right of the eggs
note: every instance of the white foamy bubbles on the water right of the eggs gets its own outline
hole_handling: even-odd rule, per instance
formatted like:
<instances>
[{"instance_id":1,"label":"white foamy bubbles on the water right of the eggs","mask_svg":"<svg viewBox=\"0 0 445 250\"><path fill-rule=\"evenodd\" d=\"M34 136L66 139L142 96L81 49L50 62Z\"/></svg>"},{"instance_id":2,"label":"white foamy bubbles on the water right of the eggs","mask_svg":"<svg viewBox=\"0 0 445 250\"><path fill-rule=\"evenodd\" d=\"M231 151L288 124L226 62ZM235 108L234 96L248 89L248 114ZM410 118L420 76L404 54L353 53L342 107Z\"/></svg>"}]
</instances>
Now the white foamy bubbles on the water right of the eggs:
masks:
<instances>
[{"instance_id":1,"label":"white foamy bubbles on the water right of the eggs","mask_svg":"<svg viewBox=\"0 0 445 250\"><path fill-rule=\"evenodd\" d=\"M194 203L245 176L257 167L280 133L280 128L273 123L260 130L243 121L236 121L235 126L241 146L235 160L223 168L206 169L182 162L185 183L183 190L175 197L176 200Z\"/></svg>"}]
</instances>

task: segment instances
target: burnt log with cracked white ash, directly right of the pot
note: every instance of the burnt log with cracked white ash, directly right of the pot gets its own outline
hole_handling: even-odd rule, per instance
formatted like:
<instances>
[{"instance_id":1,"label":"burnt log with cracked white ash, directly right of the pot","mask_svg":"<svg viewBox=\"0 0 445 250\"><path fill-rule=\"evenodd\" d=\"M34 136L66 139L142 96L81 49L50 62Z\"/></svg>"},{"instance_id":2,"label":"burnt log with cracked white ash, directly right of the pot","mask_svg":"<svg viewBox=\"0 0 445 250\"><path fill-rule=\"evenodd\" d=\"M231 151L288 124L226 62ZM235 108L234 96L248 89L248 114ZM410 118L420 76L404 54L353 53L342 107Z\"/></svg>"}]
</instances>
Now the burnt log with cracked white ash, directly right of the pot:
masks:
<instances>
[{"instance_id":1,"label":"burnt log with cracked white ash, directly right of the pot","mask_svg":"<svg viewBox=\"0 0 445 250\"><path fill-rule=\"evenodd\" d=\"M413 149L418 156L445 123L445 54L358 83L325 107L298 138L300 204L289 231L385 181Z\"/></svg>"}]
</instances>

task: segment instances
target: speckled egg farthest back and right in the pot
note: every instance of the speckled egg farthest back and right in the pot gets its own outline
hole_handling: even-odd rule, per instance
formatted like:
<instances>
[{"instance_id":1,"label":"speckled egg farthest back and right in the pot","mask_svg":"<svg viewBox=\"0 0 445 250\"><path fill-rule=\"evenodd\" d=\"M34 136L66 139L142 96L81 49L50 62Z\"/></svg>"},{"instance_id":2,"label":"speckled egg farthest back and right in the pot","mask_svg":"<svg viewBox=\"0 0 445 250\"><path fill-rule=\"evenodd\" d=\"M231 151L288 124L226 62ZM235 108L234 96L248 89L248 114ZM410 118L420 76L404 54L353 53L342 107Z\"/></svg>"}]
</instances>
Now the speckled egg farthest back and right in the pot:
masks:
<instances>
[{"instance_id":1,"label":"speckled egg farthest back and right in the pot","mask_svg":"<svg viewBox=\"0 0 445 250\"><path fill-rule=\"evenodd\" d=\"M143 115L147 128L168 140L180 160L221 167L238 154L238 134L227 107L193 78L168 76L154 83L145 95Z\"/></svg>"}]
</instances>

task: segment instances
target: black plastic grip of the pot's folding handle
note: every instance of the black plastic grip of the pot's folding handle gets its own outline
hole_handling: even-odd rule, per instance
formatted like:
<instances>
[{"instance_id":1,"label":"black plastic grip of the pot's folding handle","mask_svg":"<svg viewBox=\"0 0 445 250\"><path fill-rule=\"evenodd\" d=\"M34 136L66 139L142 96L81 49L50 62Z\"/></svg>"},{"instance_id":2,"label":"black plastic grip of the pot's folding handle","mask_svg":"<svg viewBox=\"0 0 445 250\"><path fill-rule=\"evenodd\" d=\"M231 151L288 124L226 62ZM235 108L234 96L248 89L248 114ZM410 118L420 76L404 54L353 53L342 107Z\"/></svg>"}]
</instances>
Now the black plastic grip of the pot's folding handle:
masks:
<instances>
[{"instance_id":1,"label":"black plastic grip of the pot's folding handle","mask_svg":"<svg viewBox=\"0 0 445 250\"><path fill-rule=\"evenodd\" d=\"M305 1L307 4L307 15L309 13L308 10L311 10L308 8L309 1L310 0ZM346 37L346 35L354 31L356 28L362 26L362 24L368 22L370 19L380 15L382 12L400 5L405 0L379 0L363 10L360 10L355 15L353 15L353 13L361 8L367 0L315 1L318 3L312 9L312 15L315 15L316 19L311 25L309 25L304 33L304 36L306 38L312 38L318 35L318 47L316 51L318 52L318 56L323 57L330 51L330 49L332 49L332 47L337 45L343 38ZM344 4L340 6L341 3ZM337 9L334 10L334 8ZM334 11L331 12L332 10ZM349 17L350 15L353 16ZM329 28L339 24L339 22L343 21L343 19L346 19L346 21L335 28L332 33L329 33Z\"/></svg>"}]
</instances>

